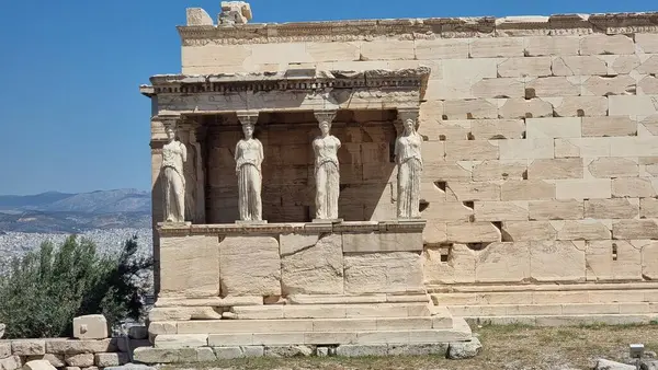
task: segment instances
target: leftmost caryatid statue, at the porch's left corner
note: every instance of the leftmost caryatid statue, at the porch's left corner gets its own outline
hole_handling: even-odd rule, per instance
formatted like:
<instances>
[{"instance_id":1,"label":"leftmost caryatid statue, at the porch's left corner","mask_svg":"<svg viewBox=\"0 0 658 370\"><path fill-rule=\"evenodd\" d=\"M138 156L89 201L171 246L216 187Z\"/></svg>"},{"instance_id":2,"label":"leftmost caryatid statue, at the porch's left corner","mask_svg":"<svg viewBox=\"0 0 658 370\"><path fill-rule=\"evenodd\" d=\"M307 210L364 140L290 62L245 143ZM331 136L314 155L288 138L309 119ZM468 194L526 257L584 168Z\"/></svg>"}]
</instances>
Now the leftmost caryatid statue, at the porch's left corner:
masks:
<instances>
[{"instance_id":1,"label":"leftmost caryatid statue, at the porch's left corner","mask_svg":"<svg viewBox=\"0 0 658 370\"><path fill-rule=\"evenodd\" d=\"M188 149L177 138L175 120L166 123L167 143L162 147L162 193L164 196L164 221L185 222L185 174Z\"/></svg>"}]
</instances>

